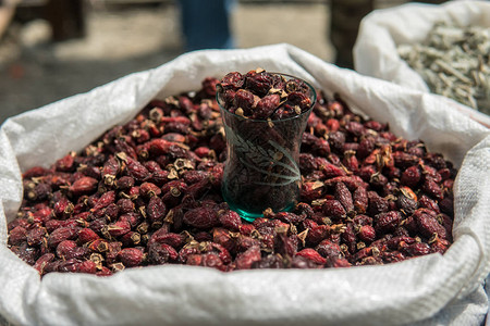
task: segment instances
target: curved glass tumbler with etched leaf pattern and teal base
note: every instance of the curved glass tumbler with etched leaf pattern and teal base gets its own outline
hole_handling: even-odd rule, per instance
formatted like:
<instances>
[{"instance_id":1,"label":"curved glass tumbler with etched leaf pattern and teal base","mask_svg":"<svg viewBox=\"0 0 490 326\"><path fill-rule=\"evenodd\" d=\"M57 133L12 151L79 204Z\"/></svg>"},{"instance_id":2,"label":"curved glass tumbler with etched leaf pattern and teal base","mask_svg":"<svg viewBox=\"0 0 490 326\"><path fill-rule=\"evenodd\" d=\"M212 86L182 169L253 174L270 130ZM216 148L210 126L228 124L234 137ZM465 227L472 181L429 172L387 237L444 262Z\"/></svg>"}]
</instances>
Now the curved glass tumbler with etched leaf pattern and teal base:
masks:
<instances>
[{"instance_id":1,"label":"curved glass tumbler with etched leaf pattern and teal base","mask_svg":"<svg viewBox=\"0 0 490 326\"><path fill-rule=\"evenodd\" d=\"M228 150L222 196L230 209L246 221L262 216L268 208L274 212L287 211L298 202L302 135L316 101L315 89L304 83L309 88L309 109L296 116L274 121L231 113L223 108L221 91L217 91Z\"/></svg>"}]
</instances>

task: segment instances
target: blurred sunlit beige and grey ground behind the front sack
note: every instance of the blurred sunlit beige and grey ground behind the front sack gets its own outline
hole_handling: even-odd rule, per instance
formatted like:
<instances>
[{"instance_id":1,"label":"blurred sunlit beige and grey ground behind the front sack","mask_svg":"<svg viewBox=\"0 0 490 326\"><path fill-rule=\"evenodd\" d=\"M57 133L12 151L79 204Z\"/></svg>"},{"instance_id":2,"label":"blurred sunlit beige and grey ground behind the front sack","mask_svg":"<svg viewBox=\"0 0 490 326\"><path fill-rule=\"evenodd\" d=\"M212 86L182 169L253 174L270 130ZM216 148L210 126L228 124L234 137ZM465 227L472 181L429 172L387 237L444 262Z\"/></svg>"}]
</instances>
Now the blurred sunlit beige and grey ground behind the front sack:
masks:
<instances>
[{"instance_id":1,"label":"blurred sunlit beige and grey ground behind the front sack","mask_svg":"<svg viewBox=\"0 0 490 326\"><path fill-rule=\"evenodd\" d=\"M326 3L238 2L233 14L237 47L289 42L331 61ZM13 26L0 42L0 124L182 54L177 15L172 3L132 10L90 7L87 36L60 43L49 42L45 21Z\"/></svg>"}]
</instances>

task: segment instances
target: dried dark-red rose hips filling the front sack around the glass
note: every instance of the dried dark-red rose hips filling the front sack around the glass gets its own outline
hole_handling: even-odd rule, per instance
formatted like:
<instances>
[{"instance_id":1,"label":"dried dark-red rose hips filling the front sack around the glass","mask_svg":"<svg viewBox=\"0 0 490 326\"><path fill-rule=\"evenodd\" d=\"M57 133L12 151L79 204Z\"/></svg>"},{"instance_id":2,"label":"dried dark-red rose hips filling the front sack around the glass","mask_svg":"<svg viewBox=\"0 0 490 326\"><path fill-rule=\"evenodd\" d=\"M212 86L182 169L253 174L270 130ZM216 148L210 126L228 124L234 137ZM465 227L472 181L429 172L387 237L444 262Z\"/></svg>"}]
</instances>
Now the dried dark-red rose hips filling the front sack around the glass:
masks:
<instances>
[{"instance_id":1,"label":"dried dark-red rose hips filling the front sack around the glass","mask_svg":"<svg viewBox=\"0 0 490 326\"><path fill-rule=\"evenodd\" d=\"M152 101L79 153L26 171L10 249L41 275L160 264L346 267L448 249L456 170L321 92L303 136L302 202L242 221L220 195L217 83Z\"/></svg>"}]
</instances>

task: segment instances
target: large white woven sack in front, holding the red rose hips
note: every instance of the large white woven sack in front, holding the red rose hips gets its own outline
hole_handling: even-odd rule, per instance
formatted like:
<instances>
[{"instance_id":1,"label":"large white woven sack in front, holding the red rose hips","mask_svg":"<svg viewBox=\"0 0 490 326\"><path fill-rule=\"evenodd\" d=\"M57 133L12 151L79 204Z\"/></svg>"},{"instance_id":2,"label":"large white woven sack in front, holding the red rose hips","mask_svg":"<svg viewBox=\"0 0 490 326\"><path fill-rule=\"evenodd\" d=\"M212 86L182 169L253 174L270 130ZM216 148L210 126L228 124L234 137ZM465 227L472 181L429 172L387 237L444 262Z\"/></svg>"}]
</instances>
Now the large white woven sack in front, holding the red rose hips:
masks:
<instances>
[{"instance_id":1,"label":"large white woven sack in front, holding the red rose hips","mask_svg":"<svg viewBox=\"0 0 490 326\"><path fill-rule=\"evenodd\" d=\"M5 246L22 198L21 171L79 150L149 100L196 90L206 76L256 67L339 92L393 133L424 139L461 167L455 242L383 266L221 273L163 265L111 277L37 271ZM22 325L395 325L481 322L490 253L490 131L440 97L341 70L289 45L184 54L8 120L0 128L0 314ZM452 310L448 311L448 308ZM446 313L448 312L448 313ZM439 321L439 322L438 322ZM450 323L444 323L450 321ZM454 324L456 325L456 324ZM476 325L476 324L475 324Z\"/></svg>"}]
</instances>

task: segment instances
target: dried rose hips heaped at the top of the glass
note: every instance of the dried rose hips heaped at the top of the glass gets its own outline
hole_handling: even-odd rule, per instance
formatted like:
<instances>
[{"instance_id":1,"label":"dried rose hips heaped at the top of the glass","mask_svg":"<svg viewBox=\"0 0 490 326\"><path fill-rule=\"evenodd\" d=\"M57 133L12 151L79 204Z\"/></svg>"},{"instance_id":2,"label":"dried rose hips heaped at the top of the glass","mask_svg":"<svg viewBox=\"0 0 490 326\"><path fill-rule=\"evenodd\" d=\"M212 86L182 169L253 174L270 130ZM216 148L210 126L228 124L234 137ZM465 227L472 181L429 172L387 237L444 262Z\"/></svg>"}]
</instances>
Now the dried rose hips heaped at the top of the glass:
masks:
<instances>
[{"instance_id":1,"label":"dried rose hips heaped at the top of the glass","mask_svg":"<svg viewBox=\"0 0 490 326\"><path fill-rule=\"evenodd\" d=\"M218 87L225 110L253 120L289 118L311 108L311 90L303 80L261 68L229 73Z\"/></svg>"}]
</instances>

